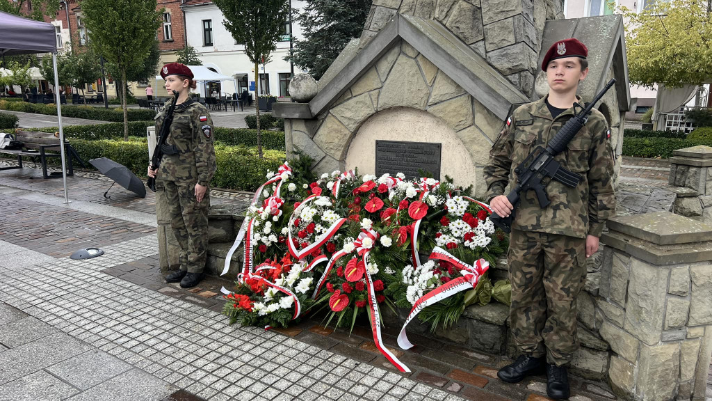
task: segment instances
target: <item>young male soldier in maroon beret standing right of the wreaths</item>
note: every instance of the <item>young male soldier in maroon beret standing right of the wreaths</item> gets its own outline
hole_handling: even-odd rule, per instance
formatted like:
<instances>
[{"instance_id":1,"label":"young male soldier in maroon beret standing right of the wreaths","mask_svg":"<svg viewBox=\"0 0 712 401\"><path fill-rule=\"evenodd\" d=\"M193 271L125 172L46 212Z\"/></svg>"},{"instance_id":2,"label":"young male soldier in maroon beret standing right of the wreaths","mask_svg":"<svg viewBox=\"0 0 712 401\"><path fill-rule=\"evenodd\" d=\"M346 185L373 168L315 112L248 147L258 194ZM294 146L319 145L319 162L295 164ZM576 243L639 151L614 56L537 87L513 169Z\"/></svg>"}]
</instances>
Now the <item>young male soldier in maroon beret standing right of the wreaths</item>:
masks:
<instances>
[{"instance_id":1,"label":"young male soldier in maroon beret standing right of the wreaths","mask_svg":"<svg viewBox=\"0 0 712 401\"><path fill-rule=\"evenodd\" d=\"M558 41L547 52L549 94L517 108L492 146L484 175L492 209L502 217L513 205L504 196L510 173L536 146L546 147L572 116L579 81L586 78L586 46L577 39ZM577 108L576 112L580 112ZM586 258L598 249L604 220L614 215L613 158L610 131L603 115L593 110L588 123L555 157L579 174L576 188L550 181L550 205L541 208L535 193L522 193L515 210L508 254L512 283L510 325L522 355L498 376L519 382L546 366L547 393L569 397L566 365L578 347L576 298L586 277Z\"/></svg>"}]
</instances>

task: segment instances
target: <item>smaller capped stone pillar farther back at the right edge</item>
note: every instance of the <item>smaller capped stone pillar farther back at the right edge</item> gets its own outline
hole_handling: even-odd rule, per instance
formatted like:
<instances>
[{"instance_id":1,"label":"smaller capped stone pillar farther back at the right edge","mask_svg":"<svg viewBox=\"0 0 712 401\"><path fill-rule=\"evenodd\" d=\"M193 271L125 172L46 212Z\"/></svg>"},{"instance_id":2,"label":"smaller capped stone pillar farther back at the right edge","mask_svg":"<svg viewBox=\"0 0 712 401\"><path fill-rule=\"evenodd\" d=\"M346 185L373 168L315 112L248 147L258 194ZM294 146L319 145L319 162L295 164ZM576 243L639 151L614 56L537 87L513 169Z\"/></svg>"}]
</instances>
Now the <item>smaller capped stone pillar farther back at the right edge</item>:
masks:
<instances>
[{"instance_id":1,"label":"smaller capped stone pillar farther back at the right edge","mask_svg":"<svg viewBox=\"0 0 712 401\"><path fill-rule=\"evenodd\" d=\"M673 151L670 158L670 186L689 188L678 193L675 213L701 216L699 219L712 224L712 148L692 146Z\"/></svg>"}]
</instances>

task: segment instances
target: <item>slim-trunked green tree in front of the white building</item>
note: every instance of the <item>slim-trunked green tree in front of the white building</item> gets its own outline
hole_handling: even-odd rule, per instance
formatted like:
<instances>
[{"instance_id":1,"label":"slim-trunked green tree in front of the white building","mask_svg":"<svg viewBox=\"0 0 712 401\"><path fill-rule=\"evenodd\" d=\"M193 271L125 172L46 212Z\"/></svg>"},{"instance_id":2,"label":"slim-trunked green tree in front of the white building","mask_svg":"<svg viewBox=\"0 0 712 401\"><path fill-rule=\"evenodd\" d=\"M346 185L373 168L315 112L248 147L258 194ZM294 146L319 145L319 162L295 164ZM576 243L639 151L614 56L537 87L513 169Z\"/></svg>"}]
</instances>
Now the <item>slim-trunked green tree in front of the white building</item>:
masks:
<instances>
[{"instance_id":1,"label":"slim-trunked green tree in front of the white building","mask_svg":"<svg viewBox=\"0 0 712 401\"><path fill-rule=\"evenodd\" d=\"M277 49L284 23L289 16L288 0L213 0L222 11L223 25L232 37L245 45L245 54L255 66L255 113L257 116L257 153L262 158L260 107L257 91L259 64Z\"/></svg>"}]
</instances>

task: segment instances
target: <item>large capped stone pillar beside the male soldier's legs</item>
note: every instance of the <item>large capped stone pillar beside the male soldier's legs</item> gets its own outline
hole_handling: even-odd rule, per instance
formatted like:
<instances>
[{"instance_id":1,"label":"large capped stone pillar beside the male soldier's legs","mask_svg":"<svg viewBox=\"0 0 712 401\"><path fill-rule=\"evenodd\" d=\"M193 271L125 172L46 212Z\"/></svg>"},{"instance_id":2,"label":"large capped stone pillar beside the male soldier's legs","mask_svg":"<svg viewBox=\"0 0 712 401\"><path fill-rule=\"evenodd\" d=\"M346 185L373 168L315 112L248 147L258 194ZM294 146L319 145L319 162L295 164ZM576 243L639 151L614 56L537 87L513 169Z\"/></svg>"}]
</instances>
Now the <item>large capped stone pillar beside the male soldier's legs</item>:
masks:
<instances>
[{"instance_id":1,"label":"large capped stone pillar beside the male soldier's legs","mask_svg":"<svg viewBox=\"0 0 712 401\"><path fill-rule=\"evenodd\" d=\"M608 379L627 400L704 400L712 354L712 227L669 212L617 217L596 298L612 350Z\"/></svg>"}]
</instances>

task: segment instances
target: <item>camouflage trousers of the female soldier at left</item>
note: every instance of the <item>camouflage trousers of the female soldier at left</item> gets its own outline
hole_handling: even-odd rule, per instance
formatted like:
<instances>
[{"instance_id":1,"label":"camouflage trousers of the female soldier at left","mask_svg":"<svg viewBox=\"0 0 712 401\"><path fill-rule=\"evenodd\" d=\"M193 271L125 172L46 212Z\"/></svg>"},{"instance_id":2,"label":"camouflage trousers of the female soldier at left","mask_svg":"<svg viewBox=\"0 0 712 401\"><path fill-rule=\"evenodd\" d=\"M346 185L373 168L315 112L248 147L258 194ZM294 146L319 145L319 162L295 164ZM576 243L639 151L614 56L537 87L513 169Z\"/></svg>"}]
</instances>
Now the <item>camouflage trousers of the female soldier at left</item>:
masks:
<instances>
[{"instance_id":1,"label":"camouflage trousers of the female soldier at left","mask_svg":"<svg viewBox=\"0 0 712 401\"><path fill-rule=\"evenodd\" d=\"M194 183L161 180L165 191L171 228L180 245L180 269L202 273L207 260L210 190L201 203L195 200Z\"/></svg>"}]
</instances>

